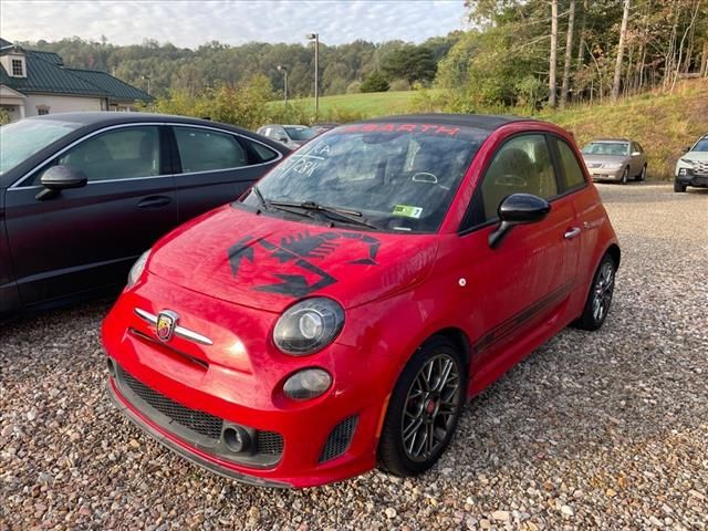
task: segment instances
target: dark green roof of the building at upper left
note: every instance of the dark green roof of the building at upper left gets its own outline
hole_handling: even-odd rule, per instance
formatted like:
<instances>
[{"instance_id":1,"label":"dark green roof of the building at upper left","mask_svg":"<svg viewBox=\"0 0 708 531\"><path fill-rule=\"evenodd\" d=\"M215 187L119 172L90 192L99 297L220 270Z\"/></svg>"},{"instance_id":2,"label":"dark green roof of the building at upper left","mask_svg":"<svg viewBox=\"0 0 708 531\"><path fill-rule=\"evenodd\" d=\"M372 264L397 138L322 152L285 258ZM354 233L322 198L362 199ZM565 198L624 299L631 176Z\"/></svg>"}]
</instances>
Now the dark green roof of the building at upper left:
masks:
<instances>
[{"instance_id":1,"label":"dark green roof of the building at upper left","mask_svg":"<svg viewBox=\"0 0 708 531\"><path fill-rule=\"evenodd\" d=\"M0 40L0 55L14 50L9 41ZM144 101L153 97L106 72L65 69L60 55L53 52L22 50L25 58L27 77L8 75L0 65L0 84L21 93L70 94L107 97L119 102Z\"/></svg>"}]
</instances>

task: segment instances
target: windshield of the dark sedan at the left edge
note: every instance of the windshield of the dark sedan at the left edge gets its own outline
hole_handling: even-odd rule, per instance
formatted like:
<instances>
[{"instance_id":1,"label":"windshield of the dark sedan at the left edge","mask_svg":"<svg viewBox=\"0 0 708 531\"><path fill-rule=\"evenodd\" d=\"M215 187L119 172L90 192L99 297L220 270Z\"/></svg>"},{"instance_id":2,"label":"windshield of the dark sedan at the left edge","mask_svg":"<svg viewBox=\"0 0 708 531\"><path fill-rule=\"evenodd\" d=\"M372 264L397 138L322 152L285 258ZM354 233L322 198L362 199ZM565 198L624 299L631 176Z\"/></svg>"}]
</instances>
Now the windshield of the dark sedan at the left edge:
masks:
<instances>
[{"instance_id":1,"label":"windshield of the dark sedan at the left edge","mask_svg":"<svg viewBox=\"0 0 708 531\"><path fill-rule=\"evenodd\" d=\"M79 127L81 124L56 119L22 119L0 126L0 175Z\"/></svg>"}]
</instances>

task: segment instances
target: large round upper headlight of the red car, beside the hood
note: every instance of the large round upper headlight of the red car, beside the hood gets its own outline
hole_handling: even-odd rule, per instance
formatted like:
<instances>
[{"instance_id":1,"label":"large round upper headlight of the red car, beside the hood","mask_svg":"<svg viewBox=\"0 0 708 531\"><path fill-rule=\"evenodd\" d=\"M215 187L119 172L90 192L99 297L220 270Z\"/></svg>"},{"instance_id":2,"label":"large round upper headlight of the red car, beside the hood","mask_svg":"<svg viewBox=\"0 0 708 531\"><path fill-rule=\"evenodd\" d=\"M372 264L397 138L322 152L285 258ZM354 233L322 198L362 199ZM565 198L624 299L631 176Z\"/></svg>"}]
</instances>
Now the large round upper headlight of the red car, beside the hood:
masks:
<instances>
[{"instance_id":1,"label":"large round upper headlight of the red car, beside the hood","mask_svg":"<svg viewBox=\"0 0 708 531\"><path fill-rule=\"evenodd\" d=\"M280 316L273 330L273 341L285 354L303 356L332 343L343 325L344 310L332 299L305 299Z\"/></svg>"}]
</instances>

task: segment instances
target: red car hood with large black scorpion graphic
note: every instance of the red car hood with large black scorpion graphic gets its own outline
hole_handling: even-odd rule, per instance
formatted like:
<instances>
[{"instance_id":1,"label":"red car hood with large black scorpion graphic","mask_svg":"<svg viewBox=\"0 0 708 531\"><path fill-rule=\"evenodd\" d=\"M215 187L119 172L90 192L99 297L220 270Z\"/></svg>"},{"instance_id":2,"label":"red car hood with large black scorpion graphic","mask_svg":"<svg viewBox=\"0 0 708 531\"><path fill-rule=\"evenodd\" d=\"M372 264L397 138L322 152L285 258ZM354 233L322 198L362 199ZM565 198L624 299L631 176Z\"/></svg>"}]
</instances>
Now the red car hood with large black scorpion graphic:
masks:
<instances>
[{"instance_id":1,"label":"red car hood with large black scorpion graphic","mask_svg":"<svg viewBox=\"0 0 708 531\"><path fill-rule=\"evenodd\" d=\"M313 295L352 308L423 280L437 244L436 235L330 228L225 206L163 238L147 270L188 290L273 312Z\"/></svg>"}]
</instances>

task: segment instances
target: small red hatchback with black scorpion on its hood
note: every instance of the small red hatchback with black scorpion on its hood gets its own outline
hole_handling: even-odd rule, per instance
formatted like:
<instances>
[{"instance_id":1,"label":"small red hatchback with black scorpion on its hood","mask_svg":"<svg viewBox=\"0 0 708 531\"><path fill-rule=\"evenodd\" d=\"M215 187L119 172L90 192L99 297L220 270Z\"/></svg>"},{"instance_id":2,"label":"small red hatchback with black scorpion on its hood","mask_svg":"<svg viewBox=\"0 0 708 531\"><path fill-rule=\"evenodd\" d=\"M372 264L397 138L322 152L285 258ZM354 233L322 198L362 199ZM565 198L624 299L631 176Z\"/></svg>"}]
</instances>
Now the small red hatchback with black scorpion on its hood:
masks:
<instances>
[{"instance_id":1,"label":"small red hatchback with black scorpion on its hood","mask_svg":"<svg viewBox=\"0 0 708 531\"><path fill-rule=\"evenodd\" d=\"M582 160L531 119L323 134L136 262L103 325L113 399L252 483L427 470L466 400L603 324L620 248Z\"/></svg>"}]
</instances>

